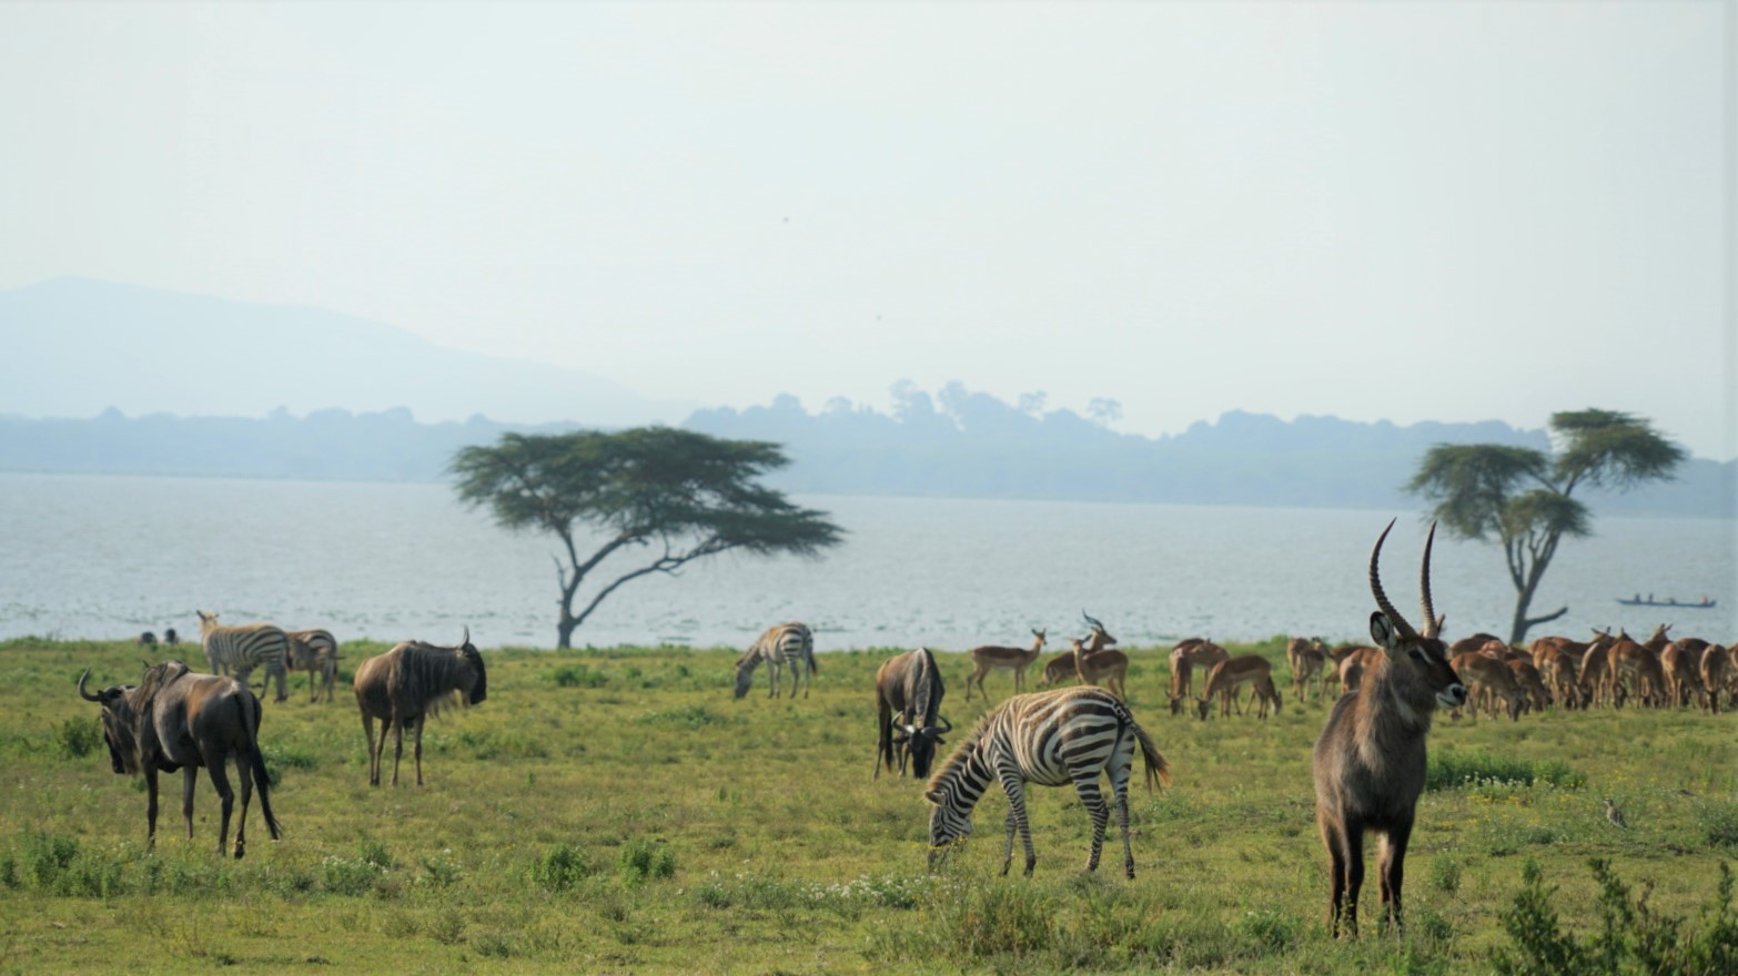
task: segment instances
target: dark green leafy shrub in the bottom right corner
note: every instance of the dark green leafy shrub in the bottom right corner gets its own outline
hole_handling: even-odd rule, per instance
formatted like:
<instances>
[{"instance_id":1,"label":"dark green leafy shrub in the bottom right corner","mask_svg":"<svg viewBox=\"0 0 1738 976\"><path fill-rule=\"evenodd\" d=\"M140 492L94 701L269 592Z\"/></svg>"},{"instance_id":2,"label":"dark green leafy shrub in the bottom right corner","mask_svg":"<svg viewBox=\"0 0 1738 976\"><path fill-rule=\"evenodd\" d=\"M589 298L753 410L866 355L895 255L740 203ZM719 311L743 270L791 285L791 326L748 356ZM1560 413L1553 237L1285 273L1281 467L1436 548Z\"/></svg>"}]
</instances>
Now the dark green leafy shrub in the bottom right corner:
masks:
<instances>
[{"instance_id":1,"label":"dark green leafy shrub in the bottom right corner","mask_svg":"<svg viewBox=\"0 0 1738 976\"><path fill-rule=\"evenodd\" d=\"M1557 889L1547 886L1531 860L1521 868L1521 891L1503 915L1510 945L1491 955L1503 976L1583 976L1648 973L1656 976L1738 973L1738 915L1733 913L1733 872L1722 861L1714 898L1702 907L1700 924L1656 912L1618 879L1604 858L1587 867L1599 882L1599 924L1592 938L1564 931L1550 907Z\"/></svg>"}]
</instances>

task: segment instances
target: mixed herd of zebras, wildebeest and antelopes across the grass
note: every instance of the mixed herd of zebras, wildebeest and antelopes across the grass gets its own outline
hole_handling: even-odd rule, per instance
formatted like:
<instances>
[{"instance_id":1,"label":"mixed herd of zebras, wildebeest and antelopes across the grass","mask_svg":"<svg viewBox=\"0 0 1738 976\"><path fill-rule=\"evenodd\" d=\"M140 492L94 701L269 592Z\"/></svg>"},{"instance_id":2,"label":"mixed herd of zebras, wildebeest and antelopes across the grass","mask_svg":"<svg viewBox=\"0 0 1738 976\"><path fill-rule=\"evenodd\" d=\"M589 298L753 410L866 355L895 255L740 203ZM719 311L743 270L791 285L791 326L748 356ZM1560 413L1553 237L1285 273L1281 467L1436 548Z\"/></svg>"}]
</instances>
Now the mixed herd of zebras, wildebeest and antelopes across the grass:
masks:
<instances>
[{"instance_id":1,"label":"mixed herd of zebras, wildebeest and antelopes across the grass","mask_svg":"<svg viewBox=\"0 0 1738 976\"><path fill-rule=\"evenodd\" d=\"M1312 773L1316 783L1316 821L1330 860L1330 931L1357 931L1357 896L1363 886L1363 837L1382 835L1378 853L1378 889L1382 920L1401 924L1401 879L1406 846L1413 828L1418 795L1425 781L1425 733L1437 709L1469 707L1470 716L1484 710L1491 717L1505 714L1519 719L1528 710L1547 707L1589 709L1688 707L1698 703L1714 714L1722 698L1738 695L1738 648L1712 644L1696 637L1670 641L1668 625L1660 625L1648 641L1630 639L1622 630L1595 630L1582 643L1569 637L1540 637L1522 651L1489 634L1474 634L1448 644L1441 639L1444 618L1430 601L1430 545L1425 540L1420 570L1422 627L1415 629L1389 601L1382 589L1378 563L1382 544L1392 523L1376 538L1370 556L1370 589L1376 611L1370 615L1373 644L1326 648L1319 639L1295 637L1286 646L1295 695L1307 698L1314 686L1317 698L1330 684L1340 686L1328 721L1316 742ZM1114 804L1123 837L1123 870L1135 877L1135 858L1128 830L1128 780L1133 755L1142 754L1147 790L1170 781L1170 769L1151 735L1135 721L1124 702L1123 686L1128 656L1116 650L1102 622L1085 615L1090 630L1071 639L1071 650L1041 669L1039 686L1076 686L1024 693L1025 672L1043 651L1045 630L1032 630L1031 648L982 646L968 653L972 672L965 679L965 698L973 684L987 702L984 679L992 670L1012 670L1015 695L991 709L945 759L935 766L937 747L952 729L942 717L944 684L935 655L918 648L888 658L876 672L878 748L874 776L883 768L907 769L928 778L925 797L930 811L930 865L972 832L972 809L998 781L1008 795L1003 874L1013 863L1013 841L1020 837L1025 875L1038 856L1025 818L1027 783L1060 787L1072 783L1091 818L1091 851L1086 870L1097 870L1104 835ZM78 679L78 693L101 703L103 733L109 747L113 771L143 775L148 808L146 844L156 835L160 771L182 771L182 816L193 837L193 790L205 769L222 804L217 853L228 849L235 792L226 773L236 762L242 811L236 821L233 854L247 849L247 809L252 788L259 788L261 809L273 839L278 820L271 811L264 759L259 750L262 707L247 684L255 669L264 669L266 683L276 679L276 700L283 702L287 670L309 676L309 698L332 700L339 665L339 644L328 630L283 630L271 623L226 627L216 613L198 611L200 641L212 674L196 674L170 660L146 669L137 686L118 684L89 691L89 670ZM143 634L141 644L156 644ZM163 634L176 644L174 630ZM753 688L756 669L765 663L770 695L782 693L780 669L791 669L791 696L815 672L813 634L803 623L768 629L735 663L735 696ZM1206 721L1217 698L1220 714L1243 710L1243 686L1250 686L1251 707L1260 717L1267 709L1277 714L1281 695L1274 686L1272 665L1260 655L1229 656L1224 648L1204 639L1178 643L1170 655L1171 714L1192 705ZM1204 688L1191 700L1192 676L1206 676ZM233 672L233 674L231 674ZM403 733L414 740L417 785L422 785L422 726L428 716L459 702L474 705L487 696L483 656L471 644L469 629L455 646L405 641L384 655L362 662L353 679L356 705L368 738L368 783L381 785L386 736L395 738L393 785L403 757ZM261 684L261 691L266 684ZM381 722L379 740L374 735ZM1112 804L1100 794L1100 776L1109 776ZM1609 811L1609 801L1606 801ZM1613 820L1616 813L1611 811Z\"/></svg>"}]
</instances>

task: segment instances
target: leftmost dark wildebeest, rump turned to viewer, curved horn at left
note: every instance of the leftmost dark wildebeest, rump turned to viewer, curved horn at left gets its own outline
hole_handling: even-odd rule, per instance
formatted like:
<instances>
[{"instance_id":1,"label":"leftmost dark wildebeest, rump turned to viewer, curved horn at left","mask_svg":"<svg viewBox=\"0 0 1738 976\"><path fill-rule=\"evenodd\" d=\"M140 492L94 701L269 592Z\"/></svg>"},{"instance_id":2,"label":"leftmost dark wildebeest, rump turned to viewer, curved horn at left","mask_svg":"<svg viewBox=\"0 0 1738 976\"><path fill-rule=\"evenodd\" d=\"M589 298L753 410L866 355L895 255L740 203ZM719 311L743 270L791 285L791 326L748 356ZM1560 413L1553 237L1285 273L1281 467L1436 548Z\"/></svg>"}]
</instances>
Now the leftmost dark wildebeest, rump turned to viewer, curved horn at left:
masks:
<instances>
[{"instance_id":1,"label":"leftmost dark wildebeest, rump turned to viewer, curved horn at left","mask_svg":"<svg viewBox=\"0 0 1738 976\"><path fill-rule=\"evenodd\" d=\"M247 804L254 785L266 828L278 839L278 818L271 814L266 759L259 754L259 698L240 681L217 674L193 674L181 662L163 662L146 669L137 686L116 684L92 695L85 691L90 669L78 676L78 696L103 705L103 736L108 740L115 773L144 773L146 847L156 842L156 773L182 773L181 814L193 839L193 783L207 769L222 799L222 827L217 854L229 841L229 813L235 792L224 762L235 759L242 780L242 820L235 827L235 856L247 853Z\"/></svg>"}]
</instances>

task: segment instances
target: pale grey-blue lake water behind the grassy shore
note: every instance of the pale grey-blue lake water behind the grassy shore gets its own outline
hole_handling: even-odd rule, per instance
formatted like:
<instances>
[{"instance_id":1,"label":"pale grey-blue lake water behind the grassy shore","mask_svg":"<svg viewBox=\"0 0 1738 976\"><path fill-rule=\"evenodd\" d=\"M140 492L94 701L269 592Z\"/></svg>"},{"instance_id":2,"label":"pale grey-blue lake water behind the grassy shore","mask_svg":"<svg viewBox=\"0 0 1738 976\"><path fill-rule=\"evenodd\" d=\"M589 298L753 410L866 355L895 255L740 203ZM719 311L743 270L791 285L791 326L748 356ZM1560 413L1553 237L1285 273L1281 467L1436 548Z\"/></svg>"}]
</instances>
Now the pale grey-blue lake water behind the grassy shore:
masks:
<instances>
[{"instance_id":1,"label":"pale grey-blue lake water behind the grassy shore","mask_svg":"<svg viewBox=\"0 0 1738 976\"><path fill-rule=\"evenodd\" d=\"M846 542L813 561L726 554L634 580L575 643L740 648L794 618L815 627L819 650L1017 644L1031 627L1055 646L1083 630L1081 610L1124 644L1361 639L1370 545L1394 516L1387 589L1416 617L1422 509L798 500L829 511ZM1535 611L1571 611L1535 636L1670 622L1677 636L1738 641L1735 523L1599 518L1595 531L1550 566ZM0 474L0 639L196 636L193 611L217 610L339 641L454 643L468 625L485 648L547 648L554 551L459 507L445 485ZM1434 589L1449 637L1507 632L1514 590L1496 547L1437 540ZM1616 604L1635 592L1719 606Z\"/></svg>"}]
</instances>

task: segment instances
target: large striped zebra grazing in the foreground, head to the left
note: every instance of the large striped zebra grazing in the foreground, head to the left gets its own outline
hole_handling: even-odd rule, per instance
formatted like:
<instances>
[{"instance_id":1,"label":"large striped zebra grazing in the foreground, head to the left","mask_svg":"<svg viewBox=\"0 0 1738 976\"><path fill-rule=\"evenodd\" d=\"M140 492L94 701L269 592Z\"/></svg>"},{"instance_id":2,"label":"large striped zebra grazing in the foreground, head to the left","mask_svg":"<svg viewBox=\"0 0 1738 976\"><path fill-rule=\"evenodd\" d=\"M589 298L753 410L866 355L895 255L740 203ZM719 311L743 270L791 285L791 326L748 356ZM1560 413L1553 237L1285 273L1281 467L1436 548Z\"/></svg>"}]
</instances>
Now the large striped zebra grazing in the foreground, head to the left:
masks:
<instances>
[{"instance_id":1,"label":"large striped zebra grazing in the foreground, head to the left","mask_svg":"<svg viewBox=\"0 0 1738 976\"><path fill-rule=\"evenodd\" d=\"M1098 794L1100 773L1111 776L1116 816L1123 827L1123 874L1135 877L1135 853L1128 846L1128 775L1135 747L1147 766L1147 790L1170 783L1170 766L1152 736L1142 729L1116 695L1097 686L1058 688L1015 695L985 716L959 748L930 778L925 797L930 811L930 867L954 841L972 834L972 808L1001 780L1008 794L1008 844L1001 874L1013 865L1013 832L1025 844L1025 877L1032 877L1038 853L1025 821L1025 783L1060 787L1074 783L1091 816L1091 854L1086 870L1098 868L1104 830L1111 811Z\"/></svg>"}]
</instances>

